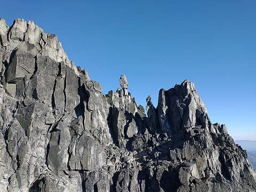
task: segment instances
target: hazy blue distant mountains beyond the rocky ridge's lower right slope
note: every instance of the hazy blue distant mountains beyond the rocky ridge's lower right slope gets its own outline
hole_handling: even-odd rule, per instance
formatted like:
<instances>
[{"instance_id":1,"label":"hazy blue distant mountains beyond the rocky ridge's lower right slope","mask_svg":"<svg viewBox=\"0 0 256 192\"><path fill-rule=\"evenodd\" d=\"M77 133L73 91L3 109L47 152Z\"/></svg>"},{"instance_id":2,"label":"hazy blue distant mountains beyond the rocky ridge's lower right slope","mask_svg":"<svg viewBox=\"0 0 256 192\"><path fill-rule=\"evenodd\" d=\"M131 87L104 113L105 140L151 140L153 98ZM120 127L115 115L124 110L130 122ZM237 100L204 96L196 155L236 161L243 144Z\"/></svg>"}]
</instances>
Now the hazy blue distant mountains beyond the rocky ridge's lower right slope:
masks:
<instances>
[{"instance_id":1,"label":"hazy blue distant mountains beyond the rocky ridge's lower right slope","mask_svg":"<svg viewBox=\"0 0 256 192\"><path fill-rule=\"evenodd\" d=\"M256 141L236 140L235 142L247 151L248 160L253 169L256 170Z\"/></svg>"}]
</instances>

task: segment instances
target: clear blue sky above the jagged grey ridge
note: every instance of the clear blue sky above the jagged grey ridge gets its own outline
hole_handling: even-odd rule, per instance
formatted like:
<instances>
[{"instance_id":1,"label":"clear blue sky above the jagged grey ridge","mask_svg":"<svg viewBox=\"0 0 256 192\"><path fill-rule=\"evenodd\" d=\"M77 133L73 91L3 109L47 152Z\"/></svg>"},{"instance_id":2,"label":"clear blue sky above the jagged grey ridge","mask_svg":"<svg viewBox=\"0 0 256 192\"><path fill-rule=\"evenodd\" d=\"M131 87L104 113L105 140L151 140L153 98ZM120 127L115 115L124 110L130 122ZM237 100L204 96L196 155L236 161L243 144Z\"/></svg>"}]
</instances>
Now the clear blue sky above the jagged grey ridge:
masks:
<instances>
[{"instance_id":1,"label":"clear blue sky above the jagged grey ridge","mask_svg":"<svg viewBox=\"0 0 256 192\"><path fill-rule=\"evenodd\" d=\"M211 121L256 140L256 2L2 1L0 17L57 34L70 60L116 90L125 74L137 103L188 79Z\"/></svg>"}]
</instances>

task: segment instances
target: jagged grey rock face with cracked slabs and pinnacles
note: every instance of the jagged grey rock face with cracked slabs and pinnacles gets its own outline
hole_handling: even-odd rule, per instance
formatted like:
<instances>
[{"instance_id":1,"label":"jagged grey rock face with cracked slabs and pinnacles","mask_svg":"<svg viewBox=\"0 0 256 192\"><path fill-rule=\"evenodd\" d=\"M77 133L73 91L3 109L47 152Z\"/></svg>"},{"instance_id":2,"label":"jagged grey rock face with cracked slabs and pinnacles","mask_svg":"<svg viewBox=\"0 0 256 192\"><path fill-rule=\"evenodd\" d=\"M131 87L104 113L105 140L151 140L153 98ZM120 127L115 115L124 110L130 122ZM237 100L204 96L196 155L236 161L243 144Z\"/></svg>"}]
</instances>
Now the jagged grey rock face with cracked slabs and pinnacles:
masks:
<instances>
[{"instance_id":1,"label":"jagged grey rock face with cracked slabs and pinnacles","mask_svg":"<svg viewBox=\"0 0 256 192\"><path fill-rule=\"evenodd\" d=\"M247 155L189 81L147 115L124 75L102 94L33 21L0 19L1 191L254 191Z\"/></svg>"}]
</instances>

